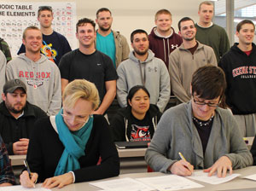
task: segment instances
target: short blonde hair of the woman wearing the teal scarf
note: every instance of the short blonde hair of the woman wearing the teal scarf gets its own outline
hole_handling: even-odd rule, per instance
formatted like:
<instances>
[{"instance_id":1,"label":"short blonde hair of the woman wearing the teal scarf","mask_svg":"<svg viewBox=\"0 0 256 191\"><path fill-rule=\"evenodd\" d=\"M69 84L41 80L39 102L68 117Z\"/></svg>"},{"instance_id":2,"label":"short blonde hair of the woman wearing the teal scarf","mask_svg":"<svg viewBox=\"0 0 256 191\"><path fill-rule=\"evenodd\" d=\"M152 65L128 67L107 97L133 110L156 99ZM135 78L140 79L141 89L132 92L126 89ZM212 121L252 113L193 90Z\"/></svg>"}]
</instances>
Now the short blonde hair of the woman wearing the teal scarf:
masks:
<instances>
[{"instance_id":1,"label":"short blonde hair of the woman wearing the teal scarf","mask_svg":"<svg viewBox=\"0 0 256 191\"><path fill-rule=\"evenodd\" d=\"M80 98L90 101L93 110L99 106L100 97L95 84L85 79L75 79L67 84L62 95L63 104L68 108L73 108Z\"/></svg>"}]
</instances>

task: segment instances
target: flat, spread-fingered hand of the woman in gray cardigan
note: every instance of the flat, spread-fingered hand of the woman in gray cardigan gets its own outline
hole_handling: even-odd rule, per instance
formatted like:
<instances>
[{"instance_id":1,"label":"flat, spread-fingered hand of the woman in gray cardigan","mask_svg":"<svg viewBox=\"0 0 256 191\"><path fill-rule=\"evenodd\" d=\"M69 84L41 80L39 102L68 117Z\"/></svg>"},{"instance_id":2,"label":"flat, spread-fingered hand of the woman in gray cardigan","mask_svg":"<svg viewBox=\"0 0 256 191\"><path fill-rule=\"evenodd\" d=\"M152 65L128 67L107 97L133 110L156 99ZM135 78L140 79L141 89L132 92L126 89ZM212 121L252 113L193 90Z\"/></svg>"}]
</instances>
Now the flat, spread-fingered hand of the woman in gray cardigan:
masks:
<instances>
[{"instance_id":1,"label":"flat, spread-fingered hand of the woman in gray cardigan","mask_svg":"<svg viewBox=\"0 0 256 191\"><path fill-rule=\"evenodd\" d=\"M230 175L231 175L232 174L232 162L228 157L222 156L210 168L208 168L204 171L209 172L208 173L209 177L211 177L215 171L217 171L218 177L226 177L228 170L230 170Z\"/></svg>"}]
</instances>

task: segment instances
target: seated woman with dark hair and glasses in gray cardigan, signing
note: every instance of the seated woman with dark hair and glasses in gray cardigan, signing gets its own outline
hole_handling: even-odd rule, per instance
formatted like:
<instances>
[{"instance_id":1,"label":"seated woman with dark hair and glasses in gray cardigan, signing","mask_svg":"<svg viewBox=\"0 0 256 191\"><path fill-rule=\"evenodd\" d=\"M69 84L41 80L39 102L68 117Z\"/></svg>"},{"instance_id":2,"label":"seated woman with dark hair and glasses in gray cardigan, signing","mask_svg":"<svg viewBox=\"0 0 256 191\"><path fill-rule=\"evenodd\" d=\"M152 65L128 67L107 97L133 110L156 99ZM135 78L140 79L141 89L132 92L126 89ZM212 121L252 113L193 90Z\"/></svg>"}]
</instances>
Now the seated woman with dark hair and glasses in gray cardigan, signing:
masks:
<instances>
[{"instance_id":1,"label":"seated woman with dark hair and glasses in gray cardigan, signing","mask_svg":"<svg viewBox=\"0 0 256 191\"><path fill-rule=\"evenodd\" d=\"M217 171L253 164L232 113L218 107L226 87L224 72L207 65L195 71L191 82L191 101L172 107L163 114L146 152L154 171L189 176L204 169L208 176ZM180 160L178 153L185 159Z\"/></svg>"}]
</instances>

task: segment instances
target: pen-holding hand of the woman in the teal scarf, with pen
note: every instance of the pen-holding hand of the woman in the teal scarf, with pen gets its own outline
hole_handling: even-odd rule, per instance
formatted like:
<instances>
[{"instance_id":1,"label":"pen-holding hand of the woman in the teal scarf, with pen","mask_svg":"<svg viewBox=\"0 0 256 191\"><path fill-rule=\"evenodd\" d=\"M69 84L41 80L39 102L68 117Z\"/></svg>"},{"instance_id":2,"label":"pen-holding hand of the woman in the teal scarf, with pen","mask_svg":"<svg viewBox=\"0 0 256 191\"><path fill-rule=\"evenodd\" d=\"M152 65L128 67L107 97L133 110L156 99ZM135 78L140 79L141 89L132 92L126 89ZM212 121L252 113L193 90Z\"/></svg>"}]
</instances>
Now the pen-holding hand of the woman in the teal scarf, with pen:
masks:
<instances>
[{"instance_id":1,"label":"pen-holding hand of the woman in the teal scarf, with pen","mask_svg":"<svg viewBox=\"0 0 256 191\"><path fill-rule=\"evenodd\" d=\"M30 171L26 159L24 160L24 165L26 167L26 171L23 171L20 175L20 184L26 188L35 188L35 182L38 180L38 173L32 173Z\"/></svg>"}]
</instances>

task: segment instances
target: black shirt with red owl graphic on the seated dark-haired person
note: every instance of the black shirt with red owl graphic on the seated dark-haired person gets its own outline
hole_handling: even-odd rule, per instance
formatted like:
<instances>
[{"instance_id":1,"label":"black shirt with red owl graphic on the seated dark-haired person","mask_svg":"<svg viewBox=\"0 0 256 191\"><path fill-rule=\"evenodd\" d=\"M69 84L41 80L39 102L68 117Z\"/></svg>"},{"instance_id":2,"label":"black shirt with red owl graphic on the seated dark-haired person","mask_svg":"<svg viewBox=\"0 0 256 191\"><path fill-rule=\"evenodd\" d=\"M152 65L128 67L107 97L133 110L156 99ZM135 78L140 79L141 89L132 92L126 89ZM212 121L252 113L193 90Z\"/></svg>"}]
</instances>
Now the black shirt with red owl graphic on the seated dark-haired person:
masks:
<instances>
[{"instance_id":1,"label":"black shirt with red owl graphic on the seated dark-haired person","mask_svg":"<svg viewBox=\"0 0 256 191\"><path fill-rule=\"evenodd\" d=\"M148 113L144 119L136 119L131 114L130 125L127 128L127 136L130 142L150 141L154 134L154 127Z\"/></svg>"}]
</instances>

